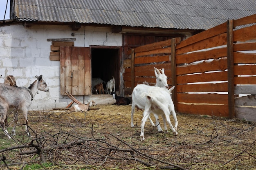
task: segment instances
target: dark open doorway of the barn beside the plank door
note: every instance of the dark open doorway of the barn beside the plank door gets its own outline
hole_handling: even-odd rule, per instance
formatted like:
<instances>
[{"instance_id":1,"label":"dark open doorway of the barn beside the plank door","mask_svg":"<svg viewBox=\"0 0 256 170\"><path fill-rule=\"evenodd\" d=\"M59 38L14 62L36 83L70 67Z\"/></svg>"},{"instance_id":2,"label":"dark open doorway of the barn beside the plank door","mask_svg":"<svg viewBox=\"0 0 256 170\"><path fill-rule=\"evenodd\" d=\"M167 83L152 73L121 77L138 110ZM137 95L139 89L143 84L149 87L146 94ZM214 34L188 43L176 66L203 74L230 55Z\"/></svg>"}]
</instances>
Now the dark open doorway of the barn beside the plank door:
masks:
<instances>
[{"instance_id":1,"label":"dark open doorway of the barn beside the plank door","mask_svg":"<svg viewBox=\"0 0 256 170\"><path fill-rule=\"evenodd\" d=\"M92 78L100 77L106 83L115 77L116 91L120 82L120 54L118 49L92 48ZM104 89L106 84L104 84Z\"/></svg>"}]
</instances>

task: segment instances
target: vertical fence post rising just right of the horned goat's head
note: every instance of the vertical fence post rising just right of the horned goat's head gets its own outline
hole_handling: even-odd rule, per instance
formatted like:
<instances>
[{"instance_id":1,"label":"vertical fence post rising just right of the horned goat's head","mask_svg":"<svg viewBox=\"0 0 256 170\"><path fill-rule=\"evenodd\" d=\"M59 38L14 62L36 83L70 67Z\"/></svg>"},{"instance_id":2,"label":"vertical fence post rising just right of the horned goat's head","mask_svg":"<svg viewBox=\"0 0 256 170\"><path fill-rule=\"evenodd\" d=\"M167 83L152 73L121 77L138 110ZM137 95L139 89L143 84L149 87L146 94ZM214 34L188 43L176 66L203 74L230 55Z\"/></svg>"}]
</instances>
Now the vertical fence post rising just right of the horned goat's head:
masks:
<instances>
[{"instance_id":1,"label":"vertical fence post rising just right of the horned goat's head","mask_svg":"<svg viewBox=\"0 0 256 170\"><path fill-rule=\"evenodd\" d=\"M175 110L177 110L177 77L176 77L176 40L173 38L171 40L171 78L172 85L175 86L173 89L173 104Z\"/></svg>"}]
</instances>

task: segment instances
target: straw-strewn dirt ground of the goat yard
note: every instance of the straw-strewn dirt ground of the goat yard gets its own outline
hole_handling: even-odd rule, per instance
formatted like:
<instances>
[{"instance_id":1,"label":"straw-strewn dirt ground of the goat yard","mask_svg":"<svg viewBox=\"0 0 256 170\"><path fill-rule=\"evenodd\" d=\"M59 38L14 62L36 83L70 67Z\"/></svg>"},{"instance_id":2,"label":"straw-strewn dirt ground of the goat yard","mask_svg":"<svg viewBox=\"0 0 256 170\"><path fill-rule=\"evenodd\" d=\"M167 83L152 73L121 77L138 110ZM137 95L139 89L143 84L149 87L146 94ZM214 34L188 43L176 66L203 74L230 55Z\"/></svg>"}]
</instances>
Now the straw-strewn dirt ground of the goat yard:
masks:
<instances>
[{"instance_id":1,"label":"straw-strewn dirt ground of the goat yard","mask_svg":"<svg viewBox=\"0 0 256 170\"><path fill-rule=\"evenodd\" d=\"M135 112L135 127L131 128L130 110L129 105L97 105L86 114L31 111L30 138L22 135L24 125L19 115L22 126L17 126L14 140L0 133L0 157L6 157L9 169L43 162L50 163L44 169L51 170L256 169L254 122L177 113L178 136L171 130L159 133L147 121L146 139L140 141L143 113ZM164 129L162 122L160 119ZM0 161L0 169L7 169L6 164Z\"/></svg>"}]
</instances>

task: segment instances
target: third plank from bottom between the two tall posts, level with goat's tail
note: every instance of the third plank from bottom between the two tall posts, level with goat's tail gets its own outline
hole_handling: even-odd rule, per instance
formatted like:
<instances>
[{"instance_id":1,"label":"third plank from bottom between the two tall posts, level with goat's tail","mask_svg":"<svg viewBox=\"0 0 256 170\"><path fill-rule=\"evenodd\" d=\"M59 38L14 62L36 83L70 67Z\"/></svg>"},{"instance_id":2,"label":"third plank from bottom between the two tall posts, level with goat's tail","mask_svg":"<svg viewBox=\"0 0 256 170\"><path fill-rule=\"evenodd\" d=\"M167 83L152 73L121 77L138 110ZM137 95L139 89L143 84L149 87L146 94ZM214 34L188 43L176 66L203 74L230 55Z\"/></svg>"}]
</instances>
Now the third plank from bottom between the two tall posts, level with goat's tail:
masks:
<instances>
[{"instance_id":1,"label":"third plank from bottom between the two tall posts, level with goat's tail","mask_svg":"<svg viewBox=\"0 0 256 170\"><path fill-rule=\"evenodd\" d=\"M186 92L227 92L227 83L183 84L175 87L177 93Z\"/></svg>"}]
</instances>

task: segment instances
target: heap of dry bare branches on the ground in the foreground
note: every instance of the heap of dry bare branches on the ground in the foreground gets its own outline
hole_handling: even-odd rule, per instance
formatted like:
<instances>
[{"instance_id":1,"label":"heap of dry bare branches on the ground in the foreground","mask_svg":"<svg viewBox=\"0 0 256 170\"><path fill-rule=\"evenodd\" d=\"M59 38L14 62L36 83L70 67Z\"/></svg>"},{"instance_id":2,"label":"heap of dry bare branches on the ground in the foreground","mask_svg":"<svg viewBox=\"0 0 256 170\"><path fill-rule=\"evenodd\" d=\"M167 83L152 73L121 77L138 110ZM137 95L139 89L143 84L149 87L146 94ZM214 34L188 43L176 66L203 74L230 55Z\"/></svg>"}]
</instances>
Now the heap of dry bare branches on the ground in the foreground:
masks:
<instances>
[{"instance_id":1,"label":"heap of dry bare branches on the ground in the foreground","mask_svg":"<svg viewBox=\"0 0 256 170\"><path fill-rule=\"evenodd\" d=\"M120 139L118 134L107 134L101 138L94 137L93 126L92 138L80 137L77 134L61 131L54 135L47 132L36 134L36 137L27 144L0 150L0 153L2 153L0 160L9 169L5 154L8 154L7 151L18 149L19 155L38 155L41 163L52 162L54 165L62 163L61 166L86 165L102 168L119 164L122 168L128 168L125 166L131 164L139 166L138 164L141 163L144 166L157 169L185 170L181 166L157 159L146 154L143 150L132 147L126 141ZM112 143L113 138L116 139L116 144ZM16 164L22 163L16 162Z\"/></svg>"}]
</instances>

